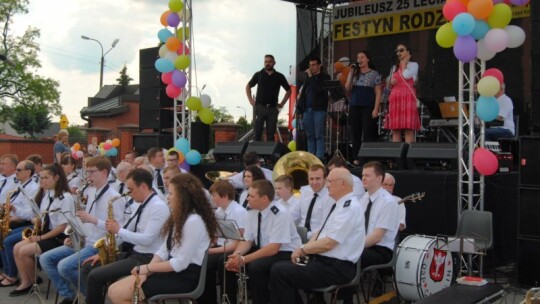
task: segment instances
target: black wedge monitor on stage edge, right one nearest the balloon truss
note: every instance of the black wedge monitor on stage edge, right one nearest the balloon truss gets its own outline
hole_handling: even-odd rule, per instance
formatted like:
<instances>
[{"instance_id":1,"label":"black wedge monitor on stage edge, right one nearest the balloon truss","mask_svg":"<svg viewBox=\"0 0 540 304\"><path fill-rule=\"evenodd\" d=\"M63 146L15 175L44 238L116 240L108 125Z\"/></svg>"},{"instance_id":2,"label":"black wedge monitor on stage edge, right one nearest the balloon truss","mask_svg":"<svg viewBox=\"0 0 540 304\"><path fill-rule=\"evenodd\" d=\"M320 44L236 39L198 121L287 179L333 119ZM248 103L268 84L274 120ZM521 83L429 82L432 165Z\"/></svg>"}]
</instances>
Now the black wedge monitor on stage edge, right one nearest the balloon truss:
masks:
<instances>
[{"instance_id":1,"label":"black wedge monitor on stage edge, right one nearest the balloon truss","mask_svg":"<svg viewBox=\"0 0 540 304\"><path fill-rule=\"evenodd\" d=\"M407 167L411 170L457 170L456 143L411 143Z\"/></svg>"}]
</instances>

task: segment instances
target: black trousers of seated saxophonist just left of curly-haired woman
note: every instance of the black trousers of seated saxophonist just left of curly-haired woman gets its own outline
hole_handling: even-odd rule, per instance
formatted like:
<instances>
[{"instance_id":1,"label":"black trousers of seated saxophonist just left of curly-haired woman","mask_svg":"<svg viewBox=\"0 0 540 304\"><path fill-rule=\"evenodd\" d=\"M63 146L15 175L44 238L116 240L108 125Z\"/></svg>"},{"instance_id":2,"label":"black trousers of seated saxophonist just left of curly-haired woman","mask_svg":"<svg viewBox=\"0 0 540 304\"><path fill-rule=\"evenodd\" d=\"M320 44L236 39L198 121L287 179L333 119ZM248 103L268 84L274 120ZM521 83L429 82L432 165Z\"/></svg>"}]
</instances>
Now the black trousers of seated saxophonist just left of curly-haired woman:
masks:
<instances>
[{"instance_id":1,"label":"black trousers of seated saxophonist just left of curly-haired woman","mask_svg":"<svg viewBox=\"0 0 540 304\"><path fill-rule=\"evenodd\" d=\"M114 282L122 277L130 275L133 267L148 264L153 256L153 254L134 252L125 259L118 260L105 266L100 266L99 264L96 264L95 266L90 266L90 264L83 265L81 268L81 280L86 280L88 286L86 303L104 303L107 284L109 282Z\"/></svg>"}]
</instances>

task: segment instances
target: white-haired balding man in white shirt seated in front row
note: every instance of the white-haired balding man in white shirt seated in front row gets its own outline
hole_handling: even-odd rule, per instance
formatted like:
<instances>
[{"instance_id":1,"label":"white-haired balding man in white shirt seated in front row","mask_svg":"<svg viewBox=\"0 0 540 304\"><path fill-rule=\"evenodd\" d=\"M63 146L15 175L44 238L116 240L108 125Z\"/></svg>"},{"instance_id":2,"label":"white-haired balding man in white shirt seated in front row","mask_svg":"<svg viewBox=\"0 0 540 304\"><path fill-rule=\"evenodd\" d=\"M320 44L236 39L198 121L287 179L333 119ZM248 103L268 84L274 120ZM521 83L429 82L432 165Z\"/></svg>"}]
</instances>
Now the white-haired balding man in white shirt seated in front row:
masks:
<instances>
[{"instance_id":1,"label":"white-haired balding man in white shirt seated in front row","mask_svg":"<svg viewBox=\"0 0 540 304\"><path fill-rule=\"evenodd\" d=\"M346 284L356 274L355 263L364 248L365 230L351 173L345 168L335 168L330 171L326 185L335 203L309 242L296 248L290 261L279 262L272 268L272 304L303 303L299 289ZM304 256L309 256L307 265L297 265L297 259Z\"/></svg>"}]
</instances>

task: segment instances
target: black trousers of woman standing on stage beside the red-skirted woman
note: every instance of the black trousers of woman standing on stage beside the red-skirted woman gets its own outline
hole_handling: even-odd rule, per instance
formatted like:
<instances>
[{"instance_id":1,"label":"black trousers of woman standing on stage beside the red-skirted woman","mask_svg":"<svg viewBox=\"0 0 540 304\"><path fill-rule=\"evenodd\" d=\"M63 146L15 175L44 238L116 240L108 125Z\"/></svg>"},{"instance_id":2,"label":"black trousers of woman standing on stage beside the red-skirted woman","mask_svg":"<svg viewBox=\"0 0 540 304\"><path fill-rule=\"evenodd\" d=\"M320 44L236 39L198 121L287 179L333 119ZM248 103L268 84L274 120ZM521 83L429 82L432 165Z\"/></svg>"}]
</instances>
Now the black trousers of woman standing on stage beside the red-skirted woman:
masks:
<instances>
[{"instance_id":1,"label":"black trousers of woman standing on stage beside the red-skirted woman","mask_svg":"<svg viewBox=\"0 0 540 304\"><path fill-rule=\"evenodd\" d=\"M353 159L358 158L362 141L377 141L377 118L371 117L374 108L375 106L349 106Z\"/></svg>"}]
</instances>

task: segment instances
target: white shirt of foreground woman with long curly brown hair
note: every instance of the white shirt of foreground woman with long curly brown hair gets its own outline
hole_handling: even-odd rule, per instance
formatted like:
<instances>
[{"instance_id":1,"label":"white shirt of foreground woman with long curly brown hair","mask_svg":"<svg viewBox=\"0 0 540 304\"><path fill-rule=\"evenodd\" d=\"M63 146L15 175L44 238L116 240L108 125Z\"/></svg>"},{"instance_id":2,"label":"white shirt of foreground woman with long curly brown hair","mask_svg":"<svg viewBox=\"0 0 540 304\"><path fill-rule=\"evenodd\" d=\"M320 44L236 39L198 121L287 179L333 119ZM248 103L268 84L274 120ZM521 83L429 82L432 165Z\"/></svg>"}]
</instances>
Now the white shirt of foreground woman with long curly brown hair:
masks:
<instances>
[{"instance_id":1,"label":"white shirt of foreground woman with long curly brown hair","mask_svg":"<svg viewBox=\"0 0 540 304\"><path fill-rule=\"evenodd\" d=\"M174 235L174 234L173 234ZM173 238L174 240L174 238ZM210 237L206 231L206 225L198 214L190 214L184 224L182 239L180 244L172 241L171 259L167 250L167 236L156 255L162 260L171 264L176 272L186 269L189 264L202 265L204 255L210 247Z\"/></svg>"}]
</instances>

